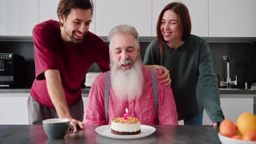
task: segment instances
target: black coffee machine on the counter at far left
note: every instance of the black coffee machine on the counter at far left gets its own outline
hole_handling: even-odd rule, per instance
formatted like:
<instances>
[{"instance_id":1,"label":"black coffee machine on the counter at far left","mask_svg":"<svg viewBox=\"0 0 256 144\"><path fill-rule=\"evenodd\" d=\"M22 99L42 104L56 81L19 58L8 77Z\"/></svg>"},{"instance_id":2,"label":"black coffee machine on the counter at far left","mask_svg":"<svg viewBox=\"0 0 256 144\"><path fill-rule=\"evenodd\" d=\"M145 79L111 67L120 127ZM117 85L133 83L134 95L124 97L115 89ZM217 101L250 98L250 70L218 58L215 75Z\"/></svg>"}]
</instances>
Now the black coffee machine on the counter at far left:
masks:
<instances>
[{"instance_id":1,"label":"black coffee machine on the counter at far left","mask_svg":"<svg viewBox=\"0 0 256 144\"><path fill-rule=\"evenodd\" d=\"M24 80L24 58L13 53L0 53L0 87L19 87Z\"/></svg>"}]
</instances>

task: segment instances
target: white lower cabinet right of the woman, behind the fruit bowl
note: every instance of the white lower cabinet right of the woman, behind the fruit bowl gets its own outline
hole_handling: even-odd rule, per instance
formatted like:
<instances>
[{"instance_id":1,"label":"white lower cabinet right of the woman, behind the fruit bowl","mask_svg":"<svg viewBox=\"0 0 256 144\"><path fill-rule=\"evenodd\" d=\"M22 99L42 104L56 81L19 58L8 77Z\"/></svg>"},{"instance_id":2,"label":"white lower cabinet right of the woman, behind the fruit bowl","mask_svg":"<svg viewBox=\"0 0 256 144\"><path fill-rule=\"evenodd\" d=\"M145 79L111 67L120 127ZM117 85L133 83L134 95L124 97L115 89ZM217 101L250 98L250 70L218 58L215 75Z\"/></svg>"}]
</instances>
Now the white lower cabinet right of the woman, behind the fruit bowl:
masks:
<instances>
[{"instance_id":1,"label":"white lower cabinet right of the woman, behind the fruit bowl","mask_svg":"<svg viewBox=\"0 0 256 144\"><path fill-rule=\"evenodd\" d=\"M231 119L236 122L238 116L243 112L253 113L253 97L243 98L222 98L225 94L220 95L220 106L222 107L225 119ZM206 112L203 113L203 125L212 125L212 121L207 116Z\"/></svg>"}]
</instances>

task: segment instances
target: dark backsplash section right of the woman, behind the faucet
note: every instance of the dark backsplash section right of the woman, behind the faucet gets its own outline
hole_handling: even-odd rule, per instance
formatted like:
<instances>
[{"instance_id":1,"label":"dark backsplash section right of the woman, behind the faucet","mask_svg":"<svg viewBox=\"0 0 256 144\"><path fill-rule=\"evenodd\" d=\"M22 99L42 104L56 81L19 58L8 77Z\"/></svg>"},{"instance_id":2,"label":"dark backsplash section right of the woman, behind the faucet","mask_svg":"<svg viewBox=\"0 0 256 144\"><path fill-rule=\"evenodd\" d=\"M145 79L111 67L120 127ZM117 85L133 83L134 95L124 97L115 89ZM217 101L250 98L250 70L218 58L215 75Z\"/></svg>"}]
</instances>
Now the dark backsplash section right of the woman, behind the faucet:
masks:
<instances>
[{"instance_id":1,"label":"dark backsplash section right of the woman, behind the faucet","mask_svg":"<svg viewBox=\"0 0 256 144\"><path fill-rule=\"evenodd\" d=\"M255 43L210 43L213 69L219 74L220 80L226 79L226 61L230 60L230 77L235 80L237 75L237 88L245 88L245 82L251 86L256 82L256 44Z\"/></svg>"}]
</instances>

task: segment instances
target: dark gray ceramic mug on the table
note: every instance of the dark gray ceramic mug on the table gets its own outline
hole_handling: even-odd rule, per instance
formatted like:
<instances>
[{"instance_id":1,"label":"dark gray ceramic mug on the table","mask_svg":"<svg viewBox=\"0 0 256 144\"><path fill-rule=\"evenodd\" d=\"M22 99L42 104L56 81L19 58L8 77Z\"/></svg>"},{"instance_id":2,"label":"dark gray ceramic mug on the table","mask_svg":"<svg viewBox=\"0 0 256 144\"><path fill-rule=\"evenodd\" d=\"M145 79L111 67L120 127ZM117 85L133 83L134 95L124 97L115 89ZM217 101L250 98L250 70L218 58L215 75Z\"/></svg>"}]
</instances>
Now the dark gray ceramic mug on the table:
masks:
<instances>
[{"instance_id":1,"label":"dark gray ceramic mug on the table","mask_svg":"<svg viewBox=\"0 0 256 144\"><path fill-rule=\"evenodd\" d=\"M51 118L43 121L45 134L49 139L63 139L66 134L74 131L73 125L69 124L66 118Z\"/></svg>"}]
</instances>

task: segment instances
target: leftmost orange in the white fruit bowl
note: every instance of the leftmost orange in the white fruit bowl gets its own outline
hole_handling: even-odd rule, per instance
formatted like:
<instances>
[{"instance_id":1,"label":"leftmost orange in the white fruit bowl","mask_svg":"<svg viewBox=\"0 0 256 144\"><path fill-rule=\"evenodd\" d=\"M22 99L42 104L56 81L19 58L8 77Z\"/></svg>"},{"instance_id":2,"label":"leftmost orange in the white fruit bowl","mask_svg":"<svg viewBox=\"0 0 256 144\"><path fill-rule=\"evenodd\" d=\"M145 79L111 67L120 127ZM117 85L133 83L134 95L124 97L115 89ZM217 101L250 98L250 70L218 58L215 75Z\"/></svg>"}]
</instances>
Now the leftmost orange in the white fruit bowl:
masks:
<instances>
[{"instance_id":1,"label":"leftmost orange in the white fruit bowl","mask_svg":"<svg viewBox=\"0 0 256 144\"><path fill-rule=\"evenodd\" d=\"M230 119L225 119L219 125L219 134L233 137L236 135L236 125Z\"/></svg>"}]
</instances>

